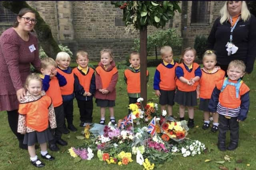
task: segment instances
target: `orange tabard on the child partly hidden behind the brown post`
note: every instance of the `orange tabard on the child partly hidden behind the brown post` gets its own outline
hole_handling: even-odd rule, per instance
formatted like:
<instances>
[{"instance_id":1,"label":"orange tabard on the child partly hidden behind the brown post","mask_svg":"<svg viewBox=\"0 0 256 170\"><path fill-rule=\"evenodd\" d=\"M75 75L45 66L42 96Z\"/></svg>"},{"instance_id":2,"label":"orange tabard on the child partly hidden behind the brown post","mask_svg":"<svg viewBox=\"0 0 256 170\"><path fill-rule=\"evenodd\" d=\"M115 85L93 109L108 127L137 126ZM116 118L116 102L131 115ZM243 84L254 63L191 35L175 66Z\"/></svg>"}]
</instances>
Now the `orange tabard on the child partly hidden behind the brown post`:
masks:
<instances>
[{"instance_id":1,"label":"orange tabard on the child partly hidden behind the brown post","mask_svg":"<svg viewBox=\"0 0 256 170\"><path fill-rule=\"evenodd\" d=\"M127 78L127 92L128 93L140 93L140 72L133 72L126 69L124 74ZM148 70L147 70L148 76Z\"/></svg>"}]
</instances>

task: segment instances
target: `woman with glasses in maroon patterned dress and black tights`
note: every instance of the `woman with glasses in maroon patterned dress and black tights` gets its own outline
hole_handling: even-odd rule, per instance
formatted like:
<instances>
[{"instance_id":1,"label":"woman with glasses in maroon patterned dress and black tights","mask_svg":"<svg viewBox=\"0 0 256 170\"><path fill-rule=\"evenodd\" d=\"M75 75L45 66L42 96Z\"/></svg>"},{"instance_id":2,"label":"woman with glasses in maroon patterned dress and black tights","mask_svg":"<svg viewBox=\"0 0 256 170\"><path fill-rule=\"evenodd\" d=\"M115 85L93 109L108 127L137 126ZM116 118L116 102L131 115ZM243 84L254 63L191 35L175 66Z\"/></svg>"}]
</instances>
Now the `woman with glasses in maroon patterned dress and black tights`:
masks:
<instances>
[{"instance_id":1,"label":"woman with glasses in maroon patterned dress and black tights","mask_svg":"<svg viewBox=\"0 0 256 170\"><path fill-rule=\"evenodd\" d=\"M0 36L0 111L6 110L12 132L23 144L24 135L17 133L18 106L26 95L24 82L30 74L30 64L40 70L38 39L30 33L36 24L35 12L20 10L13 27Z\"/></svg>"}]
</instances>

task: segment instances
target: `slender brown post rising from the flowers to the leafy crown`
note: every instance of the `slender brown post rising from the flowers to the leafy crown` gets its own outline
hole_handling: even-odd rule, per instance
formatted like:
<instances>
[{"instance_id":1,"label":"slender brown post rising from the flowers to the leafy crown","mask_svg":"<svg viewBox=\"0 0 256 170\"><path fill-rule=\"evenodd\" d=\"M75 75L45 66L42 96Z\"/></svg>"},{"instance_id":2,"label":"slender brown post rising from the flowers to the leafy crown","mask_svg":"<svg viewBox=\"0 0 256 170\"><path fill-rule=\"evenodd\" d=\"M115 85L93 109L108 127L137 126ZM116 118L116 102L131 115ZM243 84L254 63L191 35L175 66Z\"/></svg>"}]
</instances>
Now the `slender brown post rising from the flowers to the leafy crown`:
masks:
<instances>
[{"instance_id":1,"label":"slender brown post rising from the flowers to the leafy crown","mask_svg":"<svg viewBox=\"0 0 256 170\"><path fill-rule=\"evenodd\" d=\"M144 99L143 106L147 104L147 27L140 28L140 94Z\"/></svg>"}]
</instances>

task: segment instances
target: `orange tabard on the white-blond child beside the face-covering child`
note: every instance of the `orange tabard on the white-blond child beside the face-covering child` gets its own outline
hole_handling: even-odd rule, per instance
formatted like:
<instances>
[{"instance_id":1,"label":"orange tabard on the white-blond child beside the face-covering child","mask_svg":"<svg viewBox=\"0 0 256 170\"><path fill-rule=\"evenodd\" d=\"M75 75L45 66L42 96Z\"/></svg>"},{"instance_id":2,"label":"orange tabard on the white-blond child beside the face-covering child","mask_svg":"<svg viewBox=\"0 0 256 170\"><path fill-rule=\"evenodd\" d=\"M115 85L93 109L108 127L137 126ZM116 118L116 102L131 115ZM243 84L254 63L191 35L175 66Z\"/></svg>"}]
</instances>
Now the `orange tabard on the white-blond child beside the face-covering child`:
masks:
<instances>
[{"instance_id":1,"label":"orange tabard on the white-blond child beside the face-covering child","mask_svg":"<svg viewBox=\"0 0 256 170\"><path fill-rule=\"evenodd\" d=\"M58 72L61 72L61 75L64 76L67 80L67 84L65 86L60 87L60 92L62 95L70 95L74 92L74 73L66 73L62 70L60 70L60 68L57 68Z\"/></svg>"}]
</instances>

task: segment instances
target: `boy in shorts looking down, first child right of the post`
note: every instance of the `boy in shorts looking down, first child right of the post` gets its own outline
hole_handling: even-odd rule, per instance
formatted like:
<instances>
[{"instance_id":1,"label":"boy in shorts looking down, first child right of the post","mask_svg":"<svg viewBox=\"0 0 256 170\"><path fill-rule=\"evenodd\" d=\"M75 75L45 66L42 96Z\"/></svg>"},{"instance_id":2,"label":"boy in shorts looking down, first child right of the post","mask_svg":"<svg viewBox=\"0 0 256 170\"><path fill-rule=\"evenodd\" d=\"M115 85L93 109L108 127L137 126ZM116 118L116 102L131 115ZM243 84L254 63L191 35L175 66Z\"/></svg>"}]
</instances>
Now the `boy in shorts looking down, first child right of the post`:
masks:
<instances>
[{"instance_id":1,"label":"boy in shorts looking down, first child right of the post","mask_svg":"<svg viewBox=\"0 0 256 170\"><path fill-rule=\"evenodd\" d=\"M161 113L168 110L168 115L172 116L172 106L174 105L174 94L176 89L175 69L178 64L173 60L173 52L170 46L164 46L160 50L163 62L156 67L154 76L154 90L159 97Z\"/></svg>"}]
</instances>

